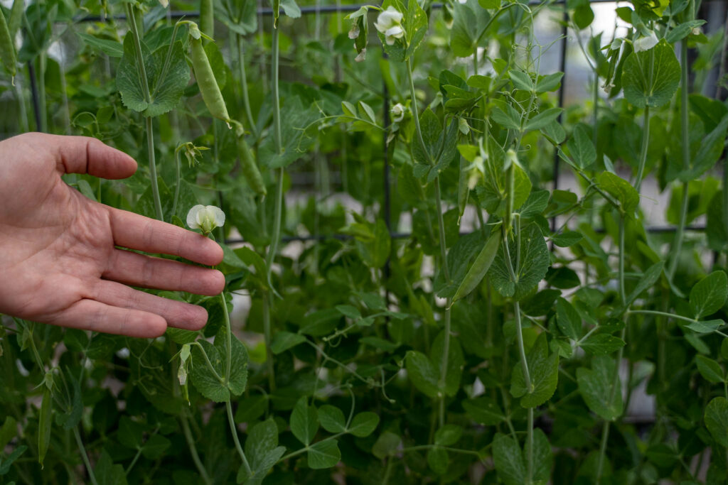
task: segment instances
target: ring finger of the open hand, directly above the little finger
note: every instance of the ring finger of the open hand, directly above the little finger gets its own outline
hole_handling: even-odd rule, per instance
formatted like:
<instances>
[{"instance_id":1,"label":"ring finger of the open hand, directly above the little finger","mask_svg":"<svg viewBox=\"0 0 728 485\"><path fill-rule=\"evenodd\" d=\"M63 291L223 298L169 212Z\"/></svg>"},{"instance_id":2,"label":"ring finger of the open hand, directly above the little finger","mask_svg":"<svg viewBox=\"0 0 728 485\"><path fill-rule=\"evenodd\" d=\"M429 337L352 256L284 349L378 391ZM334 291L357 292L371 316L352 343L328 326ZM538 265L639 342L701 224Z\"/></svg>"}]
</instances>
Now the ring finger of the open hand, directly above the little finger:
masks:
<instances>
[{"instance_id":1,"label":"ring finger of the open hand, directly above the little finger","mask_svg":"<svg viewBox=\"0 0 728 485\"><path fill-rule=\"evenodd\" d=\"M197 305L178 302L141 292L114 281L99 280L93 290L94 300L117 308L141 310L162 318L166 326L199 330L207 323L207 311ZM162 333L164 330L162 330Z\"/></svg>"}]
</instances>

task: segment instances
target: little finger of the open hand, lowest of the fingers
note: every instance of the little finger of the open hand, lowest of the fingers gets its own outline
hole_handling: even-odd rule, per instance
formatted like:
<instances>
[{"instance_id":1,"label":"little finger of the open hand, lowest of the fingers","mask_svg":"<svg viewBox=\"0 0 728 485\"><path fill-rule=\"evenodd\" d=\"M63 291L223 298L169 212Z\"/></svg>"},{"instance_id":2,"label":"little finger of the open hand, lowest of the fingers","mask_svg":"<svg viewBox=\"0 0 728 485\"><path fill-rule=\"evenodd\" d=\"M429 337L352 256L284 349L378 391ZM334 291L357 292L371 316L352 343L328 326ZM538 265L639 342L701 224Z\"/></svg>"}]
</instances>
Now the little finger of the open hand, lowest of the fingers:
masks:
<instances>
[{"instance_id":1,"label":"little finger of the open hand, lowest of the fingers","mask_svg":"<svg viewBox=\"0 0 728 485\"><path fill-rule=\"evenodd\" d=\"M119 308L95 300L79 300L48 322L72 329L128 337L159 337L167 330L165 318L142 310Z\"/></svg>"}]
</instances>

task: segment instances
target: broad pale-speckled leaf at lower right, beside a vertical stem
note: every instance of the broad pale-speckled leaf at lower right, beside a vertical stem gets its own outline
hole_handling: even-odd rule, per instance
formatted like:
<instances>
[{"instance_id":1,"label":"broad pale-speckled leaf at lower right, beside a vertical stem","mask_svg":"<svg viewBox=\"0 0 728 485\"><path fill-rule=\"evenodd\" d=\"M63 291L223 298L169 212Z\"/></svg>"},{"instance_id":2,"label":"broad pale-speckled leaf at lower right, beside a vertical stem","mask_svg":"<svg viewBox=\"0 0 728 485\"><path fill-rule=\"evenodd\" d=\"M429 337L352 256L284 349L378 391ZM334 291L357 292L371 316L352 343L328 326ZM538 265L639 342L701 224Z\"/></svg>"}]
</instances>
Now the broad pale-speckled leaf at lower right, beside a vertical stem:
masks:
<instances>
[{"instance_id":1,"label":"broad pale-speckled leaf at lower right, beside a vertical stem","mask_svg":"<svg viewBox=\"0 0 728 485\"><path fill-rule=\"evenodd\" d=\"M579 393L589 409L608 421L614 421L622 415L622 391L620 379L614 379L617 366L613 358L606 356L592 359L592 368L579 367L577 369L577 382ZM617 388L612 390L612 383ZM614 396L609 402L609 396Z\"/></svg>"}]
</instances>

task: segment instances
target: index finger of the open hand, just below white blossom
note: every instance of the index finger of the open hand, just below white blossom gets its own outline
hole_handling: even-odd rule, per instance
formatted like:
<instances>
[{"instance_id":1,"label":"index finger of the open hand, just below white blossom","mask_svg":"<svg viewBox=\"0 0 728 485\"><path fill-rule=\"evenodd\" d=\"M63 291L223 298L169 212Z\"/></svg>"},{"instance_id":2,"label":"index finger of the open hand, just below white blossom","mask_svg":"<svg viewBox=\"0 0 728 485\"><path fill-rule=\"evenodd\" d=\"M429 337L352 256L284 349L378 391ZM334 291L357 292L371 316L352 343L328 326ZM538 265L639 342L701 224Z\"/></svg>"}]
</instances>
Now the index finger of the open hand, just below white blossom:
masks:
<instances>
[{"instance_id":1,"label":"index finger of the open hand, just below white blossom","mask_svg":"<svg viewBox=\"0 0 728 485\"><path fill-rule=\"evenodd\" d=\"M201 234L173 224L149 219L108 207L114 244L139 251L174 254L202 265L214 266L223 260L219 244Z\"/></svg>"}]
</instances>

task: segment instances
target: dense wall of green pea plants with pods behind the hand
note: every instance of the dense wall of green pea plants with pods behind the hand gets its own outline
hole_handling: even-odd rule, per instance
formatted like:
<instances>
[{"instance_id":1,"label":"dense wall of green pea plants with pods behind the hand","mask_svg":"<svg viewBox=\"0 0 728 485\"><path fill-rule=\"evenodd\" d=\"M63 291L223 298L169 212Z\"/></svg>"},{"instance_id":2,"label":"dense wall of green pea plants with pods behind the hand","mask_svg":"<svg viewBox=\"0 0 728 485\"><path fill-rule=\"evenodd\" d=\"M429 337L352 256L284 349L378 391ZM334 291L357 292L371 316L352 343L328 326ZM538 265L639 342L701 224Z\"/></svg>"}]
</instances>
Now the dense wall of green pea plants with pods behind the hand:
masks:
<instances>
[{"instance_id":1,"label":"dense wall of green pea plants with pods behind the hand","mask_svg":"<svg viewBox=\"0 0 728 485\"><path fill-rule=\"evenodd\" d=\"M226 287L145 290L209 316L151 340L2 316L0 481L728 484L728 39L614 9L3 3L14 132L130 153L66 182Z\"/></svg>"}]
</instances>

